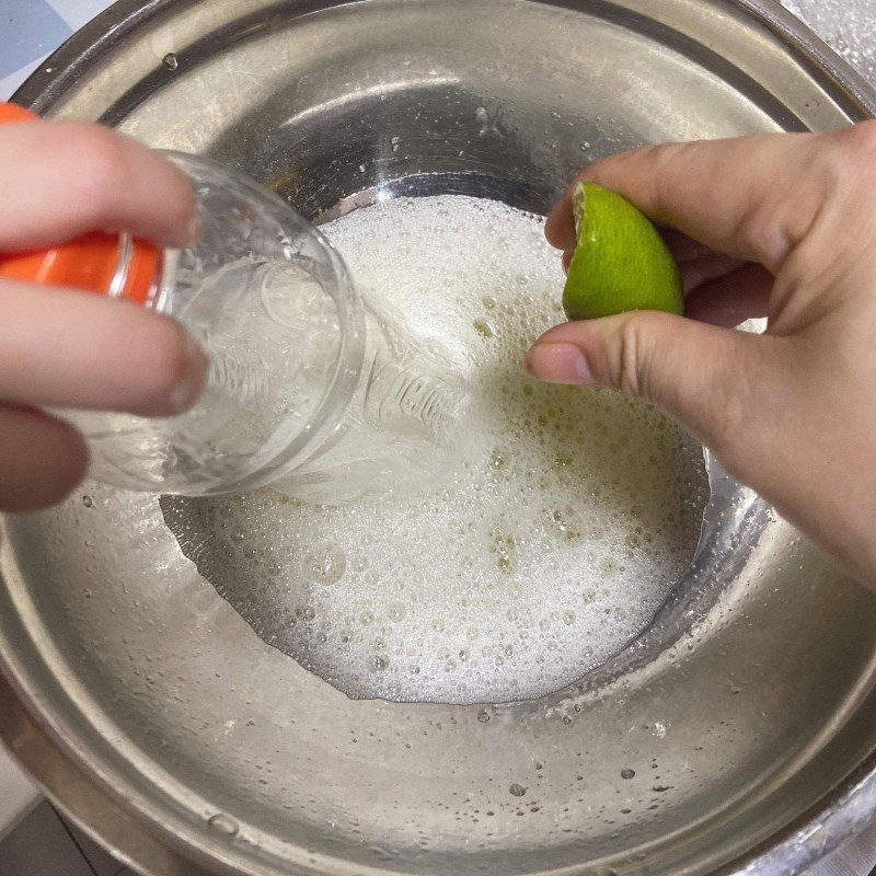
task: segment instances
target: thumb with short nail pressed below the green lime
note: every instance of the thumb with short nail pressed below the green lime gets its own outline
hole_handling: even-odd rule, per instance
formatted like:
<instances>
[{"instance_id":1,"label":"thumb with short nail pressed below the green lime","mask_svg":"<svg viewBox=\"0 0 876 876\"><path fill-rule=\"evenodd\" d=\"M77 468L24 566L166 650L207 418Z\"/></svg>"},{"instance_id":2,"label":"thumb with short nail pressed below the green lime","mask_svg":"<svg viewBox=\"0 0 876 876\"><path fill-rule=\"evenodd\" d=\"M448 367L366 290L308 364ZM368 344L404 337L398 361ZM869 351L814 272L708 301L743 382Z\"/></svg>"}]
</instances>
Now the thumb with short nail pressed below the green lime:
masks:
<instances>
[{"instance_id":1,"label":"thumb with short nail pressed below the green lime","mask_svg":"<svg viewBox=\"0 0 876 876\"><path fill-rule=\"evenodd\" d=\"M719 457L738 458L742 429L781 368L773 342L656 311L557 325L527 354L552 383L622 390L680 420ZM763 436L766 437L766 436ZM726 463L725 463L726 464Z\"/></svg>"}]
</instances>

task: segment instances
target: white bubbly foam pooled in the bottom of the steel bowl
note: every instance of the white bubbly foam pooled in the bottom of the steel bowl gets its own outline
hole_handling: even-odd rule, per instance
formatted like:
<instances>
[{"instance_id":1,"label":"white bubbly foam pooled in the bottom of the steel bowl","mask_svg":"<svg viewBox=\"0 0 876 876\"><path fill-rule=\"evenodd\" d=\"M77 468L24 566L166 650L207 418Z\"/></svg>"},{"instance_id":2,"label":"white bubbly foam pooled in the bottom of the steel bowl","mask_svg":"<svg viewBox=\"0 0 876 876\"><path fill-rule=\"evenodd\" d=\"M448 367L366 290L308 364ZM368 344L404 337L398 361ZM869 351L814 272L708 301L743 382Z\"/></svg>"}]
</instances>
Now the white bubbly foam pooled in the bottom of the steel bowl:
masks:
<instances>
[{"instance_id":1,"label":"white bubbly foam pooled in the bottom of the steel bowl","mask_svg":"<svg viewBox=\"0 0 876 876\"><path fill-rule=\"evenodd\" d=\"M351 696L499 702L575 681L690 563L700 448L642 403L522 373L562 319L537 217L441 196L323 230L414 333L466 364L476 397L458 470L429 492L337 507L269 491L165 497L165 519L265 641Z\"/></svg>"}]
</instances>

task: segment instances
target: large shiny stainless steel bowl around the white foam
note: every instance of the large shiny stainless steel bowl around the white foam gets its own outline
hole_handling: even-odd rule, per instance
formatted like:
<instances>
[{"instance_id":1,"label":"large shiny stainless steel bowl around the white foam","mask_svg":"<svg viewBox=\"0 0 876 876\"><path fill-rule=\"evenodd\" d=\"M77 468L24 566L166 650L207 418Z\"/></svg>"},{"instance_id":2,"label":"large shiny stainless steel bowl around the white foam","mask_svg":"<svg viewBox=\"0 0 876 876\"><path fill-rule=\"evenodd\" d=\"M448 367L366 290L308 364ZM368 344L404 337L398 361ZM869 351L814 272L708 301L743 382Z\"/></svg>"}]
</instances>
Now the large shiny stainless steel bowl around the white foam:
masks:
<instances>
[{"instance_id":1,"label":"large shiny stainless steel bowl around the white foam","mask_svg":"<svg viewBox=\"0 0 876 876\"><path fill-rule=\"evenodd\" d=\"M433 192L544 210L634 145L874 110L753 0L123 2L19 99L313 217ZM347 700L216 595L158 499L82 493L3 521L0 731L145 873L794 874L876 812L876 600L744 493L729 580L669 607L671 635L488 721Z\"/></svg>"}]
</instances>

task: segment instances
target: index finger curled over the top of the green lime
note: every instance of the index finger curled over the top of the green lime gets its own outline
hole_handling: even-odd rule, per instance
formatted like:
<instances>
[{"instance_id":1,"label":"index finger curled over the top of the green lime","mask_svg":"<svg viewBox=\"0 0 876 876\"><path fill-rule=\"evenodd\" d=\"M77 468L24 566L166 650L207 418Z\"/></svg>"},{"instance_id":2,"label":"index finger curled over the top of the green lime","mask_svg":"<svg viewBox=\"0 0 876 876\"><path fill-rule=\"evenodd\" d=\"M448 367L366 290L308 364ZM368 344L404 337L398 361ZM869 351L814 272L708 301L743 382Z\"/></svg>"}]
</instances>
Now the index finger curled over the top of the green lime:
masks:
<instances>
[{"instance_id":1,"label":"index finger curled over the top of the green lime","mask_svg":"<svg viewBox=\"0 0 876 876\"><path fill-rule=\"evenodd\" d=\"M545 235L575 245L572 191L579 180L611 188L658 224L775 273L825 197L826 142L838 135L777 134L666 143L600 161L551 212Z\"/></svg>"}]
</instances>

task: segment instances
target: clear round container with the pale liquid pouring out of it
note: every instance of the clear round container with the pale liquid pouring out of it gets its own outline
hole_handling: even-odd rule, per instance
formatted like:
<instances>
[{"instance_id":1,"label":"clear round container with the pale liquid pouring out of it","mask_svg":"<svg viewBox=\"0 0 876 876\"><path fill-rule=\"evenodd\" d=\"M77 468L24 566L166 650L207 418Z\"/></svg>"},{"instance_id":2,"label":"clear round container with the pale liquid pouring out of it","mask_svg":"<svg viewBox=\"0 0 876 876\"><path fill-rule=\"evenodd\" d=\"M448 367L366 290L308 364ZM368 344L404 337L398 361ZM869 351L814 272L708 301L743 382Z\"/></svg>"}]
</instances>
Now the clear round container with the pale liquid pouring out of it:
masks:
<instances>
[{"instance_id":1,"label":"clear round container with the pale liquid pouring out of it","mask_svg":"<svg viewBox=\"0 0 876 876\"><path fill-rule=\"evenodd\" d=\"M453 362L379 311L276 195L164 154L192 180L198 242L162 253L122 235L105 291L183 323L211 358L208 385L171 418L64 412L89 439L92 476L186 495L273 484L327 504L428 480L463 415Z\"/></svg>"}]
</instances>

